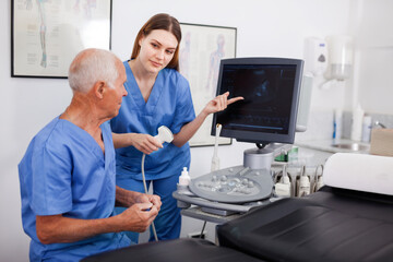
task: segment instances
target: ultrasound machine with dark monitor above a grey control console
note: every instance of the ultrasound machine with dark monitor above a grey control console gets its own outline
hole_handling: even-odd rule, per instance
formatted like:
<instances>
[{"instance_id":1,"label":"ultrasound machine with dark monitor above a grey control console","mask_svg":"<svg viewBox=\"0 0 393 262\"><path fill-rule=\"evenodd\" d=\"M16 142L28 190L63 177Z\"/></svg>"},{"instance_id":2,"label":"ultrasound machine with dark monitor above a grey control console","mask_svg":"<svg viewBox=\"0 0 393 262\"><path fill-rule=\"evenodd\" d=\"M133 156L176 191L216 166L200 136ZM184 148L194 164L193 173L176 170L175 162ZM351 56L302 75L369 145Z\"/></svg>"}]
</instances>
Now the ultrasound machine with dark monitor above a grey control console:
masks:
<instances>
[{"instance_id":1,"label":"ultrasound machine with dark monitor above a grey control console","mask_svg":"<svg viewBox=\"0 0 393 262\"><path fill-rule=\"evenodd\" d=\"M217 95L229 92L228 98L245 99L214 115L212 135L221 124L219 136L255 147L245 151L242 166L200 176L188 188L179 186L174 192L179 207L193 204L202 212L228 216L276 199L271 166L295 140L302 67L302 60L286 58L222 60Z\"/></svg>"}]
</instances>

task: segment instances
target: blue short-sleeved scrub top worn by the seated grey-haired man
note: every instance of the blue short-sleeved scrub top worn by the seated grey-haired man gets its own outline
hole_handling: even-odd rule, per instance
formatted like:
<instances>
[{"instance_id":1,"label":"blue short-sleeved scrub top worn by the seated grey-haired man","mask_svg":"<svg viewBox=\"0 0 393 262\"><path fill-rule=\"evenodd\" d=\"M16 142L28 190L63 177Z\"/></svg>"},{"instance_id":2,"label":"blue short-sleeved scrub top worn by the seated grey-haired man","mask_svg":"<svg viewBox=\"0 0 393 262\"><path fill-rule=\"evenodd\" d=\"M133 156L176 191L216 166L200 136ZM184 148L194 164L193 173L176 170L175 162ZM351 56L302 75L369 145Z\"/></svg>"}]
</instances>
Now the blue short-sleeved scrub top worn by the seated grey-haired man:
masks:
<instances>
[{"instance_id":1,"label":"blue short-sleeved scrub top worn by the seated grey-haired man","mask_svg":"<svg viewBox=\"0 0 393 262\"><path fill-rule=\"evenodd\" d=\"M105 156L97 142L70 121L55 118L33 139L19 165L22 222L32 238L31 261L79 261L127 247L124 234L103 234L72 243L43 245L36 215L80 219L111 216L116 194L115 148L109 124L102 124Z\"/></svg>"}]
</instances>

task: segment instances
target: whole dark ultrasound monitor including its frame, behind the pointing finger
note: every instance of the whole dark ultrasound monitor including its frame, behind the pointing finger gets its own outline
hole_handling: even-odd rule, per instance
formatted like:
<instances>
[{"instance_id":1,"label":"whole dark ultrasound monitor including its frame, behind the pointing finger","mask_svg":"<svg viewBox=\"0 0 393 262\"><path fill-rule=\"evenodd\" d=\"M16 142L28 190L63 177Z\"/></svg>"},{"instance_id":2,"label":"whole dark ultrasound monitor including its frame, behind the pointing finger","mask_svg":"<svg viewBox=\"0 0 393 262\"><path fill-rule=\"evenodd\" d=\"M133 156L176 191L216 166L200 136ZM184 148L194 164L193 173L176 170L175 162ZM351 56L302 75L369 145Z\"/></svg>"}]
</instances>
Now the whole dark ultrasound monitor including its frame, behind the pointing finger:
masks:
<instances>
[{"instance_id":1,"label":"whole dark ultrasound monitor including its frame, behind the pointing finger","mask_svg":"<svg viewBox=\"0 0 393 262\"><path fill-rule=\"evenodd\" d=\"M258 144L294 143L303 62L286 58L235 58L221 62L217 95L245 99L214 114L212 134Z\"/></svg>"}]
</instances>

